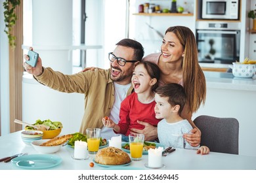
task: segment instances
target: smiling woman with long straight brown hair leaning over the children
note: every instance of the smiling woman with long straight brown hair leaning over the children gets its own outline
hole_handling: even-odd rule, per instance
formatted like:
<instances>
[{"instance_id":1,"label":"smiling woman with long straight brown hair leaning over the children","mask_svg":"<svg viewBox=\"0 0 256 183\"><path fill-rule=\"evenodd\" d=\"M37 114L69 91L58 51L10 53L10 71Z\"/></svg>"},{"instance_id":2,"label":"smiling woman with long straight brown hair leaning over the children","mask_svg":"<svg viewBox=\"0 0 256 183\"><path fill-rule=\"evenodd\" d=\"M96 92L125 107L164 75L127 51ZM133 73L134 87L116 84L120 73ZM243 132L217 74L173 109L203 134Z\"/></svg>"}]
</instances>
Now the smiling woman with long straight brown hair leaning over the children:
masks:
<instances>
[{"instance_id":1,"label":"smiling woman with long straight brown hair leaning over the children","mask_svg":"<svg viewBox=\"0 0 256 183\"><path fill-rule=\"evenodd\" d=\"M205 103L206 84L203 71L198 64L198 50L194 33L183 26L169 27L161 44L161 52L150 54L143 58L144 61L152 61L160 67L160 84L178 83L184 87L188 101L182 110L181 117L187 119L194 127L192 135L186 134L184 138L190 144L198 145L201 141L201 131L192 122L192 113L196 112L200 105ZM154 127L144 122L142 130L132 129L137 133L149 133L156 131ZM150 130L149 130L150 129Z\"/></svg>"}]
</instances>

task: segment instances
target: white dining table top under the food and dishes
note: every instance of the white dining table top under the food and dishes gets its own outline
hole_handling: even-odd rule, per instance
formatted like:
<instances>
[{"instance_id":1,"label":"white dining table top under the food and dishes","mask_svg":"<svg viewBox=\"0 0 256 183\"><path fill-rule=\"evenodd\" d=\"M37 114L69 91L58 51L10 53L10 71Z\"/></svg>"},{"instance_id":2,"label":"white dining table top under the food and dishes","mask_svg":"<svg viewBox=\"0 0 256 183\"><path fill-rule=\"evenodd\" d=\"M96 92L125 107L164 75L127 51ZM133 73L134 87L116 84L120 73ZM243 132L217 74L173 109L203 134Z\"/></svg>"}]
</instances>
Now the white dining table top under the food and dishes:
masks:
<instances>
[{"instance_id":1,"label":"white dining table top under the food and dishes","mask_svg":"<svg viewBox=\"0 0 256 183\"><path fill-rule=\"evenodd\" d=\"M0 137L0 159L14 154L26 153L28 155L40 154L32 145L25 144L22 141L21 131L9 133ZM62 134L60 134L61 136ZM166 147L165 147L166 148ZM62 146L58 152L49 154L62 161L58 165L49 167L49 170L102 170L113 169L112 166L101 166L95 164L90 167L94 161L95 155L89 155L88 159L77 160L72 158L74 148L71 146ZM242 156L237 154L225 154L219 152L210 152L207 155L196 154L196 150L176 148L174 152L162 157L163 165L160 170L256 170L256 156ZM142 155L142 160L131 161L129 165L123 166L122 169L140 169L152 170L148 168L148 154ZM12 162L0 162L0 170L19 170L21 167ZM121 169L117 167L117 169Z\"/></svg>"}]
</instances>

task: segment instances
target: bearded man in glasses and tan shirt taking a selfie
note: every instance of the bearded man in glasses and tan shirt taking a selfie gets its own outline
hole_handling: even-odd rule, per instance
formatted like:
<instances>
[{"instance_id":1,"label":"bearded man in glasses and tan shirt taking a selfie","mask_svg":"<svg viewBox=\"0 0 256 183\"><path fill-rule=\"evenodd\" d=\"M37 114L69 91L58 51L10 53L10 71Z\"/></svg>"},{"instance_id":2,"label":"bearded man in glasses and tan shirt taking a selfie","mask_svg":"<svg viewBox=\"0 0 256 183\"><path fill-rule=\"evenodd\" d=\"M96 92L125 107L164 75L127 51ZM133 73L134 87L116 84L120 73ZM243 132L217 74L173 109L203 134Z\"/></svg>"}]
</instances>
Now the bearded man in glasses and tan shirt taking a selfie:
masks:
<instances>
[{"instance_id":1,"label":"bearded man in glasses and tan shirt taking a selfie","mask_svg":"<svg viewBox=\"0 0 256 183\"><path fill-rule=\"evenodd\" d=\"M131 94L131 76L138 61L144 56L142 45L132 39L122 39L117 42L113 52L108 54L110 69L95 69L77 73L75 75L64 75L53 71L50 67L42 66L41 58L38 58L37 65L32 67L26 62L24 68L35 79L59 92L84 93L85 113L79 132L85 134L89 127L101 128L101 136L110 139L116 136L111 128L102 125L102 118L110 116L114 122L119 122L119 108L121 101ZM31 48L32 49L32 48ZM26 60L29 59L24 55ZM148 125L144 129L146 141L152 141L157 137L157 129Z\"/></svg>"}]
</instances>

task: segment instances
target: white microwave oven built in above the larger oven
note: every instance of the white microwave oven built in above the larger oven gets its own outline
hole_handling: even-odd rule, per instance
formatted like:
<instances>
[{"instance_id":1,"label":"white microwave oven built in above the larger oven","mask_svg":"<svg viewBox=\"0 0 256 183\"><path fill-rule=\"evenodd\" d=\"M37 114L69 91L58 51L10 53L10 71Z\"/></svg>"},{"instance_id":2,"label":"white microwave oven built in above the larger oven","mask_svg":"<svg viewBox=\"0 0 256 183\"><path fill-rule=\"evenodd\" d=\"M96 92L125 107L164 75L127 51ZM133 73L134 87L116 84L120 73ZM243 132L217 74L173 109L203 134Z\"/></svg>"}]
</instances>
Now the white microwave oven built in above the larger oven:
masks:
<instances>
[{"instance_id":1,"label":"white microwave oven built in above the larger oven","mask_svg":"<svg viewBox=\"0 0 256 183\"><path fill-rule=\"evenodd\" d=\"M238 20L239 0L203 0L203 19Z\"/></svg>"}]
</instances>

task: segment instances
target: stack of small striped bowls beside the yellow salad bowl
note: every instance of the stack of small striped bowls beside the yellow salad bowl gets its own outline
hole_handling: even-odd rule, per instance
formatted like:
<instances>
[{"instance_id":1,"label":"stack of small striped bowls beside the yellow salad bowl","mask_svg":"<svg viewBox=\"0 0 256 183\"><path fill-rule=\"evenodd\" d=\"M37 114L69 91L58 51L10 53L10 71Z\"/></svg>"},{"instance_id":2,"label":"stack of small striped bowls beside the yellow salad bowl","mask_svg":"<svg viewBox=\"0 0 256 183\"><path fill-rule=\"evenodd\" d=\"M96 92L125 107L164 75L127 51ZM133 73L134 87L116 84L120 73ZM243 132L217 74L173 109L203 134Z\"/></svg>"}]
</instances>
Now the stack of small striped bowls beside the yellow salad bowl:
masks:
<instances>
[{"instance_id":1,"label":"stack of small striped bowls beside the yellow salad bowl","mask_svg":"<svg viewBox=\"0 0 256 183\"><path fill-rule=\"evenodd\" d=\"M27 130L21 133L22 141L25 144L31 145L31 142L41 140L43 137L43 131Z\"/></svg>"}]
</instances>

